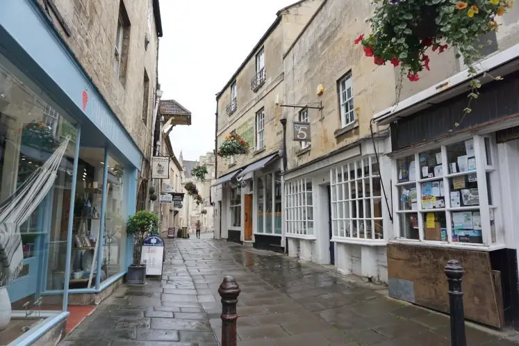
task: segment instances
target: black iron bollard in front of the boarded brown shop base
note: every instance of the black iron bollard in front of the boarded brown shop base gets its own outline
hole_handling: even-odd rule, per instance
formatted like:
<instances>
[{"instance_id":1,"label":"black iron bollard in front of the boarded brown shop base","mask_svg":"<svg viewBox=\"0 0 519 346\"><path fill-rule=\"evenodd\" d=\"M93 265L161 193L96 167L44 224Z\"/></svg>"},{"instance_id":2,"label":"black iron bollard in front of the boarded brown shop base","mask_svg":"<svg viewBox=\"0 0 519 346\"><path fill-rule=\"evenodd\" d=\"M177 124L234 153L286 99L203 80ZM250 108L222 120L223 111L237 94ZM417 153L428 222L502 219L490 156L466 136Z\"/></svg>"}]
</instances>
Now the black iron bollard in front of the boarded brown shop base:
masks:
<instances>
[{"instance_id":1,"label":"black iron bollard in front of the boarded brown shop base","mask_svg":"<svg viewBox=\"0 0 519 346\"><path fill-rule=\"evenodd\" d=\"M449 281L450 303L450 340L452 346L466 346L465 313L463 313L463 292L461 292L461 278L463 267L456 260L450 260L445 265L445 275Z\"/></svg>"}]
</instances>

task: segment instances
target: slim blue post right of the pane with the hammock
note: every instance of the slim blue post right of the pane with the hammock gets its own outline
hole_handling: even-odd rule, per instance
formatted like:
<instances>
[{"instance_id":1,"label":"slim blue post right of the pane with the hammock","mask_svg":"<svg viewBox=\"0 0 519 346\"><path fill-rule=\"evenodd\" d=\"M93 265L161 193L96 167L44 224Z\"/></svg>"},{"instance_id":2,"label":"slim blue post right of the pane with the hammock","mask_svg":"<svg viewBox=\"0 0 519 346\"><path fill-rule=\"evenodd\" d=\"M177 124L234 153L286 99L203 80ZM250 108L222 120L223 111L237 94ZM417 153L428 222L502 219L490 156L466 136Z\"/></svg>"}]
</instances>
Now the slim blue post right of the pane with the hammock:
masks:
<instances>
[{"instance_id":1,"label":"slim blue post right of the pane with the hammock","mask_svg":"<svg viewBox=\"0 0 519 346\"><path fill-rule=\"evenodd\" d=\"M69 224L67 230L67 260L65 261L65 283L63 283L63 311L67 311L69 304L70 258L72 257L72 228L74 228L74 204L76 201L76 181L78 177L79 142L81 142L81 124L78 124L76 134L76 149L74 151L74 171L72 173L72 187L70 191Z\"/></svg>"}]
</instances>

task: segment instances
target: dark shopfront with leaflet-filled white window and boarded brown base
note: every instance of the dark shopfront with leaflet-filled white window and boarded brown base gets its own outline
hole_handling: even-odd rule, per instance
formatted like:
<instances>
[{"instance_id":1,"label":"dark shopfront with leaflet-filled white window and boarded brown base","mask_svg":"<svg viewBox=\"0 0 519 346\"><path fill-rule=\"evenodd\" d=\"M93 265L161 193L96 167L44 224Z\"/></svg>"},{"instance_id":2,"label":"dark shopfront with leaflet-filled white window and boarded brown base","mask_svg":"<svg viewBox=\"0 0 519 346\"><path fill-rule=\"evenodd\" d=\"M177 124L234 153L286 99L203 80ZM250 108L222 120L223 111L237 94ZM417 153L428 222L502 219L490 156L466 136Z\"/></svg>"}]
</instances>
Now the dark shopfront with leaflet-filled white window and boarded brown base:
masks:
<instances>
[{"instance_id":1,"label":"dark shopfront with leaflet-filled white window and boarded brown base","mask_svg":"<svg viewBox=\"0 0 519 346\"><path fill-rule=\"evenodd\" d=\"M443 267L457 259L467 273L466 318L499 328L516 324L518 62L516 45L478 64L481 74L504 79L482 76L464 119L466 71L374 115L391 129L390 296L448 312Z\"/></svg>"}]
</instances>

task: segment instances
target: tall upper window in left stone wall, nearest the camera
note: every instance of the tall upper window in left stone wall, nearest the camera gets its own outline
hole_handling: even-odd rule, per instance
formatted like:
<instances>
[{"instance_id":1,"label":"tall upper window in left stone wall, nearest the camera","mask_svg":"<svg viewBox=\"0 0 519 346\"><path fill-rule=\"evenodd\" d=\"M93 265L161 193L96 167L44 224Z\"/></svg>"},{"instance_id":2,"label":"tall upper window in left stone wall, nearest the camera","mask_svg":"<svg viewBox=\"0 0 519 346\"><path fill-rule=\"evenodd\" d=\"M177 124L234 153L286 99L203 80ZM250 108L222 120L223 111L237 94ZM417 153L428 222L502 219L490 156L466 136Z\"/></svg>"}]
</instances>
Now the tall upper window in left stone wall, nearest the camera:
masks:
<instances>
[{"instance_id":1,"label":"tall upper window in left stone wall, nearest the camera","mask_svg":"<svg viewBox=\"0 0 519 346\"><path fill-rule=\"evenodd\" d=\"M126 83L129 38L130 20L128 13L126 13L126 8L124 8L124 3L121 1L119 6L119 18L117 19L117 31L115 35L113 72L123 85Z\"/></svg>"}]
</instances>

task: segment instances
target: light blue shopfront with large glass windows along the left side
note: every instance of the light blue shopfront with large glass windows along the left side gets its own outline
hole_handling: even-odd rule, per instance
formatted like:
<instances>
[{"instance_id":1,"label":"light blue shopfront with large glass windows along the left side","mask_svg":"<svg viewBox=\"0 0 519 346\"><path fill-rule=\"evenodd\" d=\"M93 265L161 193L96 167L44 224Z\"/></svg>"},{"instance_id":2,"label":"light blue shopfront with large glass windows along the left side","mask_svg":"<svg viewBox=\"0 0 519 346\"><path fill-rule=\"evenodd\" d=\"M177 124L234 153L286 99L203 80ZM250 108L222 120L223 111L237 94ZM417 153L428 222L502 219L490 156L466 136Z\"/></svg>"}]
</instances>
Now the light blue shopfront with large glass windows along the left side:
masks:
<instances>
[{"instance_id":1,"label":"light blue shopfront with large glass windows along the left side","mask_svg":"<svg viewBox=\"0 0 519 346\"><path fill-rule=\"evenodd\" d=\"M53 345L131 264L142 156L37 1L0 8L0 345Z\"/></svg>"}]
</instances>

